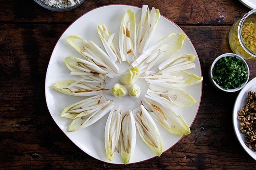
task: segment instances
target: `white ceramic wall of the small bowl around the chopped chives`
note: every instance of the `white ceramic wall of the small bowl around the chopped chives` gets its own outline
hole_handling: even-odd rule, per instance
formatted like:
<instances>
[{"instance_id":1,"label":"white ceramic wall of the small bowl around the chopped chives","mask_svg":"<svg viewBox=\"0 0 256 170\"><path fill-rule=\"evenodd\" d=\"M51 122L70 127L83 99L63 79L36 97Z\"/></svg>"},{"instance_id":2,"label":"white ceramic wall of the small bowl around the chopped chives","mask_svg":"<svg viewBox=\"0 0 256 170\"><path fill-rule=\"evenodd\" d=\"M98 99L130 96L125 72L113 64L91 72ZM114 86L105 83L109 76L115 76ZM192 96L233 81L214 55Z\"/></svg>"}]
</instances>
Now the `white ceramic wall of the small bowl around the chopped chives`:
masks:
<instances>
[{"instance_id":1,"label":"white ceramic wall of the small bowl around the chopped chives","mask_svg":"<svg viewBox=\"0 0 256 170\"><path fill-rule=\"evenodd\" d=\"M221 86L219 86L219 85L212 79L212 78L213 78L212 69L213 69L215 63L216 63L219 59L221 59L222 57L230 57L230 56L231 56L231 57L236 57L237 59L242 60L242 61L244 62L245 67L247 68L248 77L247 77L247 80L241 85L241 87L237 87L236 89L228 89L228 90L226 90L226 89L223 89ZM219 57L217 57L217 58L212 62L212 65L211 65L210 68L209 68L208 76L209 76L209 80L210 80L210 82L212 83L212 85L213 85L214 87L216 87L217 89L220 89L220 90L225 91L225 92L236 92L236 91L242 89L242 88L245 86L245 84L248 82L249 76L250 76L250 71L249 71L249 67L248 67L247 63L245 62L245 60L244 60L242 57L238 56L237 54L233 54L233 53L225 53L225 54L221 54Z\"/></svg>"}]
</instances>

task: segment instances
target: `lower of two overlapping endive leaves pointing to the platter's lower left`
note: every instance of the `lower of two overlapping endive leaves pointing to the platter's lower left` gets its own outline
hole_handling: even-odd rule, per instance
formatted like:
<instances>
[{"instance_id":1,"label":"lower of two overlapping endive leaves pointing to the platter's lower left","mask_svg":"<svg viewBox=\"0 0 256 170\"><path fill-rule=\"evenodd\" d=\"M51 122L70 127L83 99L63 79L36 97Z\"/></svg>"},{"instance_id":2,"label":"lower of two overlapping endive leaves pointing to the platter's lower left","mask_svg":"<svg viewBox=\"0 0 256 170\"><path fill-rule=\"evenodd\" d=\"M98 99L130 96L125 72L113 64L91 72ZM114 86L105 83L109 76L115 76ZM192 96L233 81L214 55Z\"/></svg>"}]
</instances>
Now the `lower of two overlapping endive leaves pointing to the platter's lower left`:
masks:
<instances>
[{"instance_id":1,"label":"lower of two overlapping endive leaves pointing to the platter's lower left","mask_svg":"<svg viewBox=\"0 0 256 170\"><path fill-rule=\"evenodd\" d=\"M101 119L105 114L107 114L114 106L114 102L111 100L107 100L104 107L100 110L95 111L87 116L78 117L72 121L72 123L67 128L68 132L77 131L82 128L86 128L87 126L92 125L93 123L97 122Z\"/></svg>"}]
</instances>

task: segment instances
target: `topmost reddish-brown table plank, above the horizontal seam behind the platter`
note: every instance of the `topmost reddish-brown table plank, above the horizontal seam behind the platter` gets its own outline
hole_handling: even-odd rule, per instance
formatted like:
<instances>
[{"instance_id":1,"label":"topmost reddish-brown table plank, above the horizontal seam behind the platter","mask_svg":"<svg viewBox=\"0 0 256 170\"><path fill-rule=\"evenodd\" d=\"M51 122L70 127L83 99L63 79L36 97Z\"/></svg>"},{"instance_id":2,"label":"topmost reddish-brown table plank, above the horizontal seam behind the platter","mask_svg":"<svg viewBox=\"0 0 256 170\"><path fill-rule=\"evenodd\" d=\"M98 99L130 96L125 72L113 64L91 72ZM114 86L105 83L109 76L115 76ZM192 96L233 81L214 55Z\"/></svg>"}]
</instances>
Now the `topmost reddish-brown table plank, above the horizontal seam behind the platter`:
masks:
<instances>
[{"instance_id":1,"label":"topmost reddish-brown table plank, above the horizontal seam behind the platter","mask_svg":"<svg viewBox=\"0 0 256 170\"><path fill-rule=\"evenodd\" d=\"M32 0L8 0L0 1L0 21L71 23L95 7L109 4L139 7L148 4L158 8L162 15L177 24L233 24L249 11L238 0L86 0L81 6L69 12L47 11Z\"/></svg>"}]
</instances>

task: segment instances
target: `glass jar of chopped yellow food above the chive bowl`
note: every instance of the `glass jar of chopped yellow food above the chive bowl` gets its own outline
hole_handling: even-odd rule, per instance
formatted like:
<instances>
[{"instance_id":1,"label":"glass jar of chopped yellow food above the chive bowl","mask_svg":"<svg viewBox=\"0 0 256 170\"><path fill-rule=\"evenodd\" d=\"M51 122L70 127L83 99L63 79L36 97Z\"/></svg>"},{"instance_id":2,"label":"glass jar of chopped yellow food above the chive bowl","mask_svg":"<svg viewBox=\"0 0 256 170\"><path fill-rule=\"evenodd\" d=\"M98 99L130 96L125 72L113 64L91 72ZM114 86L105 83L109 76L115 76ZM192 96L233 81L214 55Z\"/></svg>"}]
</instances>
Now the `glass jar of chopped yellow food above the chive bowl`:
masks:
<instances>
[{"instance_id":1,"label":"glass jar of chopped yellow food above the chive bowl","mask_svg":"<svg viewBox=\"0 0 256 170\"><path fill-rule=\"evenodd\" d=\"M247 60L256 60L256 9L236 21L229 32L232 51Z\"/></svg>"}]
</instances>

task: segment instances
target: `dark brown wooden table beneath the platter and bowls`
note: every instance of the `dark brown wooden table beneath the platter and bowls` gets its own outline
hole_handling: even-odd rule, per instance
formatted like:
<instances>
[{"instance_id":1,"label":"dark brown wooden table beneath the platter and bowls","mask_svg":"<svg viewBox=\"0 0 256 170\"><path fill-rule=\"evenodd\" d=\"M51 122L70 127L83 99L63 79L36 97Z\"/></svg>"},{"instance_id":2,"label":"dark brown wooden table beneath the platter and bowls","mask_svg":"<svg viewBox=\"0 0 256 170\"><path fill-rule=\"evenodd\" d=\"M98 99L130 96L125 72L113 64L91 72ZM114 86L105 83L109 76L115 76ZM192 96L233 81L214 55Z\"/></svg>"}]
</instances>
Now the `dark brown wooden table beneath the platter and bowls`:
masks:
<instances>
[{"instance_id":1,"label":"dark brown wooden table beneath the platter and bowls","mask_svg":"<svg viewBox=\"0 0 256 170\"><path fill-rule=\"evenodd\" d=\"M107 164L82 152L55 124L44 96L46 69L59 36L85 12L110 3L158 8L189 36L204 76L191 134L160 158L131 165ZM230 27L250 11L238 0L86 0L69 12L48 11L32 0L0 1L0 7L0 168L255 168L233 131L238 93L214 89L207 77L215 57L232 52ZM256 63L248 65L252 79Z\"/></svg>"}]
</instances>

